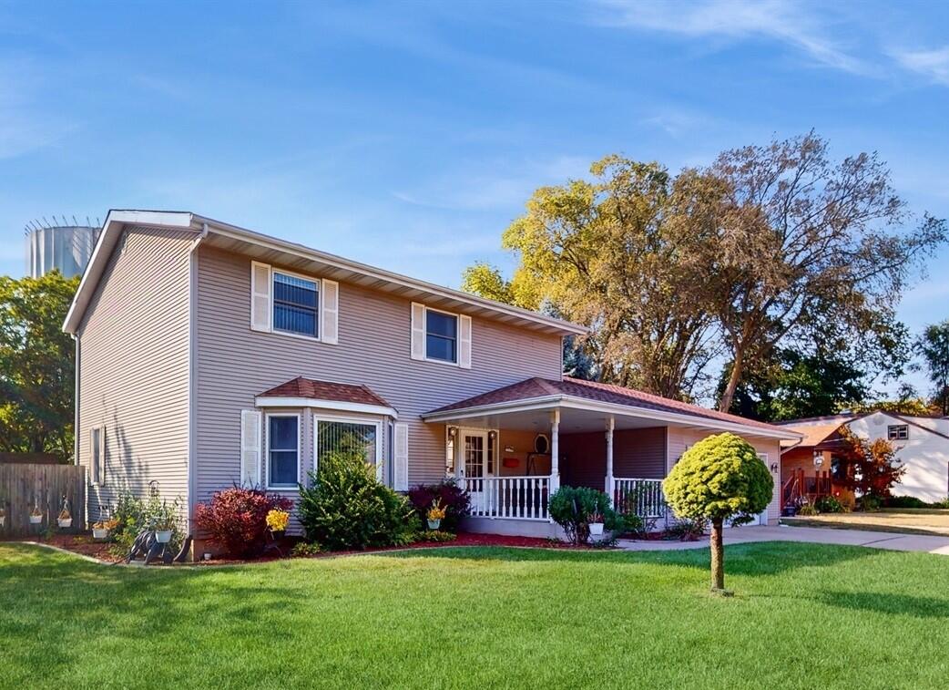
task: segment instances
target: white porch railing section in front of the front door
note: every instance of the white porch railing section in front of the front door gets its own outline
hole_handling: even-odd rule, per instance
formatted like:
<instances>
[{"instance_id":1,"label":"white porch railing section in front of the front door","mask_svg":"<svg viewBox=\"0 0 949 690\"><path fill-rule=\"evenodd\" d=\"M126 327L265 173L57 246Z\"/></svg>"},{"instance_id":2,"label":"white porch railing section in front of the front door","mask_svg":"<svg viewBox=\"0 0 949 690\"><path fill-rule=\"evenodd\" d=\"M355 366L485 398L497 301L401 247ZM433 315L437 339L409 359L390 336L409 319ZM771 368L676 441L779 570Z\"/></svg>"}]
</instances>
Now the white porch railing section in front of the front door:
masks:
<instances>
[{"instance_id":1,"label":"white porch railing section in front of the front door","mask_svg":"<svg viewBox=\"0 0 949 690\"><path fill-rule=\"evenodd\" d=\"M550 477L477 477L461 480L473 517L547 520Z\"/></svg>"}]
</instances>

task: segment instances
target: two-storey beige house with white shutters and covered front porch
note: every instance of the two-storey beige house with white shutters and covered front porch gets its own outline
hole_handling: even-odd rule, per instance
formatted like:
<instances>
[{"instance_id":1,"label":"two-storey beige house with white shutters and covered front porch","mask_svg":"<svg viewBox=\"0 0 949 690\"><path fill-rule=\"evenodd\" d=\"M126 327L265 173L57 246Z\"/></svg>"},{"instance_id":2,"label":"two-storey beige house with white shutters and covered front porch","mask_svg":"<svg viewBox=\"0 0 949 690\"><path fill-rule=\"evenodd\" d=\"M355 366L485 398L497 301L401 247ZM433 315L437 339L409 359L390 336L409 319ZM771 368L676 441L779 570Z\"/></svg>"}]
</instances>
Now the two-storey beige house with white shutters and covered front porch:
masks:
<instances>
[{"instance_id":1,"label":"two-storey beige house with white shutters and covered front porch","mask_svg":"<svg viewBox=\"0 0 949 690\"><path fill-rule=\"evenodd\" d=\"M65 331L93 518L151 481L188 515L233 484L293 497L356 438L397 490L455 477L469 528L550 534L561 484L653 509L706 435L741 434L775 479L799 437L564 377L581 326L191 213L112 211Z\"/></svg>"}]
</instances>

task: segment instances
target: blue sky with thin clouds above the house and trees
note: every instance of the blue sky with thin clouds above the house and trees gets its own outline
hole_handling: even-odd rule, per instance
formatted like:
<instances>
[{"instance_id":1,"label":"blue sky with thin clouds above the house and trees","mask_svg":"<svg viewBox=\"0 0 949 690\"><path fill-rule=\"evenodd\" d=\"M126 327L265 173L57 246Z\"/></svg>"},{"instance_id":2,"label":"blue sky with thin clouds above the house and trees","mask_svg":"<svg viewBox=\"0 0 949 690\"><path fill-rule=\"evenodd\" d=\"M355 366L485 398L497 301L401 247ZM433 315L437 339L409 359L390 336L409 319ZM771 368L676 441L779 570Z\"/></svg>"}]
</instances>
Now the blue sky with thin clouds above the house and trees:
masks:
<instances>
[{"instance_id":1,"label":"blue sky with thin clouds above the house and trees","mask_svg":"<svg viewBox=\"0 0 949 690\"><path fill-rule=\"evenodd\" d=\"M947 29L937 2L4 3L0 273L30 219L171 208L456 286L607 153L676 170L810 128L949 217Z\"/></svg>"}]
</instances>

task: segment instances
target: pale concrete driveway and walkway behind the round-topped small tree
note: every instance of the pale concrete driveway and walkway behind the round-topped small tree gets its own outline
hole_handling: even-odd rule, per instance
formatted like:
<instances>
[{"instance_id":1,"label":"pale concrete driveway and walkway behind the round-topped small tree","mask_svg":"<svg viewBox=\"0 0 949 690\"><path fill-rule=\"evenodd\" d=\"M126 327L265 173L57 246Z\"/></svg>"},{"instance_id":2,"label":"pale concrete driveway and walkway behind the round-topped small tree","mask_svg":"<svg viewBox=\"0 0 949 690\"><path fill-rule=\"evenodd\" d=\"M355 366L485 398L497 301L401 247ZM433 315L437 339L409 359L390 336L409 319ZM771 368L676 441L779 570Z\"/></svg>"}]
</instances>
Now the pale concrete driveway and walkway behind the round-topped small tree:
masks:
<instances>
[{"instance_id":1,"label":"pale concrete driveway and walkway behind the round-topped small tree","mask_svg":"<svg viewBox=\"0 0 949 690\"><path fill-rule=\"evenodd\" d=\"M949 556L949 537L921 534L871 532L864 529L824 529L821 527L732 527L725 530L725 545L750 542L806 542L889 548L895 551L924 551ZM629 551L669 551L679 548L708 548L707 538L698 542L634 542L621 539L618 545Z\"/></svg>"}]
</instances>

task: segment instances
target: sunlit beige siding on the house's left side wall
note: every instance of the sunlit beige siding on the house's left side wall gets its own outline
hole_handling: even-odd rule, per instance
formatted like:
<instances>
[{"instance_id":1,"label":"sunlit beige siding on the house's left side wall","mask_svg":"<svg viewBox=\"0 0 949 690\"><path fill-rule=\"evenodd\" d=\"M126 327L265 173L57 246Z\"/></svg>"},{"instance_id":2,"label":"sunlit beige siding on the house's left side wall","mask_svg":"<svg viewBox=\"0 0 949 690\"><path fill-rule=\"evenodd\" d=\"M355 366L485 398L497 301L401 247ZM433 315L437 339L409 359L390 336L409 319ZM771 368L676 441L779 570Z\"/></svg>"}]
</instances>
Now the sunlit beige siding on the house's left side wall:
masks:
<instances>
[{"instance_id":1,"label":"sunlit beige siding on the house's left side wall","mask_svg":"<svg viewBox=\"0 0 949 690\"><path fill-rule=\"evenodd\" d=\"M89 517L148 483L169 501L188 493L189 250L195 234L125 231L79 329L79 462L105 433L104 484Z\"/></svg>"}]
</instances>

